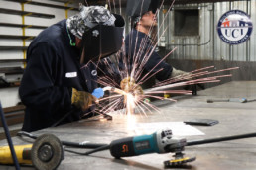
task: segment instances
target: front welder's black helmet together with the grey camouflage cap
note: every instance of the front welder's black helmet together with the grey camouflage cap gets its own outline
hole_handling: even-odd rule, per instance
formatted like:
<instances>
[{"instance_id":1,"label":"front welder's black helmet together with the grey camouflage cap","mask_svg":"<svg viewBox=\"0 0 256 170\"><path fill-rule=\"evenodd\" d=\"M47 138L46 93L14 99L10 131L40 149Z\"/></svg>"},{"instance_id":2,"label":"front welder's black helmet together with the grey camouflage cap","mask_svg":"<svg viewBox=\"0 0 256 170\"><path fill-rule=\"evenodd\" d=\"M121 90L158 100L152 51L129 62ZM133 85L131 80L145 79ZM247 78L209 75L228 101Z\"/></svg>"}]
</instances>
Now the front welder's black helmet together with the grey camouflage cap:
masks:
<instances>
[{"instance_id":1,"label":"front welder's black helmet together with the grey camouflage cap","mask_svg":"<svg viewBox=\"0 0 256 170\"><path fill-rule=\"evenodd\" d=\"M80 12L66 20L67 29L82 40L80 63L117 52L123 41L124 19L103 6L79 6Z\"/></svg>"}]
</instances>

